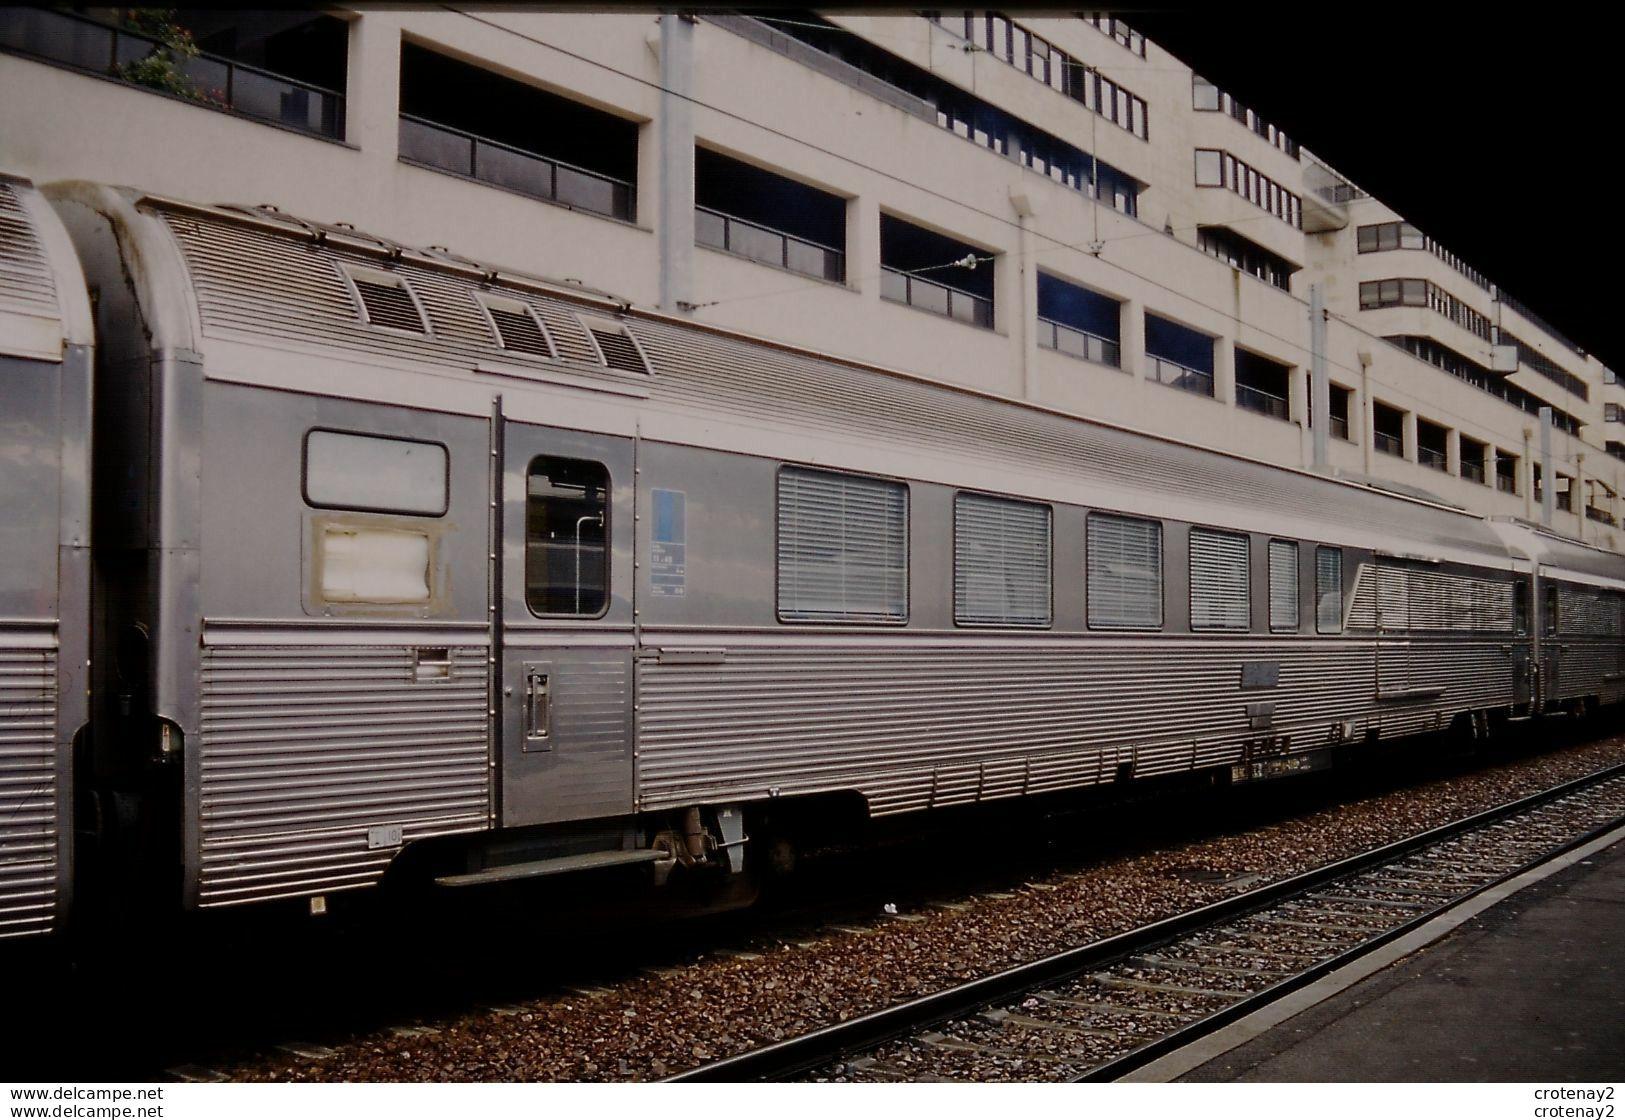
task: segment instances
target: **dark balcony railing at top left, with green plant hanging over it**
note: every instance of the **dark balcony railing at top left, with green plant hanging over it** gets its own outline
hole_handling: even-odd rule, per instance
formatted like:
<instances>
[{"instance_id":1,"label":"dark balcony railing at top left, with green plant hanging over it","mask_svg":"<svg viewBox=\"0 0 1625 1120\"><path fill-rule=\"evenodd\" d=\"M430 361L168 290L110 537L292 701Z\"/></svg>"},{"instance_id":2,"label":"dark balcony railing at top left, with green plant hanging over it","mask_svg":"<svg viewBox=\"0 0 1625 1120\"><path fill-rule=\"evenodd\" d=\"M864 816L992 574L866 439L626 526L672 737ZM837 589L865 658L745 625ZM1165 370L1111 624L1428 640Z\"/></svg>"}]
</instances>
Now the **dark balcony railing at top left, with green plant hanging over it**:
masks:
<instances>
[{"instance_id":1,"label":"dark balcony railing at top left, with green plant hanging over it","mask_svg":"<svg viewBox=\"0 0 1625 1120\"><path fill-rule=\"evenodd\" d=\"M162 46L153 36L68 11L0 8L0 49L86 73L122 78L140 88L150 86L127 76L128 68ZM318 137L344 138L344 94L335 89L211 54L176 59L174 68L192 85L187 99L200 106L229 109Z\"/></svg>"}]
</instances>

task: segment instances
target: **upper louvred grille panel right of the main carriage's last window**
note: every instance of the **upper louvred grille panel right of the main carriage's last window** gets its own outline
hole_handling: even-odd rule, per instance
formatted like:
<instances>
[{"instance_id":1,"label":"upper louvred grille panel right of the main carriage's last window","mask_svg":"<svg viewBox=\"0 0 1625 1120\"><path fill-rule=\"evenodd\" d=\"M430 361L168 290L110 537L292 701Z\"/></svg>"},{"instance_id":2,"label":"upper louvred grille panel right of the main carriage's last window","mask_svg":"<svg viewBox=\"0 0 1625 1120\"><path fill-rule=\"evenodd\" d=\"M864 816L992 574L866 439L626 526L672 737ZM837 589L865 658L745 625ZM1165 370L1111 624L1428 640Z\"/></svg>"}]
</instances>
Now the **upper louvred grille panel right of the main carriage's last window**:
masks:
<instances>
[{"instance_id":1,"label":"upper louvred grille panel right of the main carriage's last window","mask_svg":"<svg viewBox=\"0 0 1625 1120\"><path fill-rule=\"evenodd\" d=\"M1396 564L1365 564L1349 606L1352 629L1510 634L1513 585Z\"/></svg>"}]
</instances>

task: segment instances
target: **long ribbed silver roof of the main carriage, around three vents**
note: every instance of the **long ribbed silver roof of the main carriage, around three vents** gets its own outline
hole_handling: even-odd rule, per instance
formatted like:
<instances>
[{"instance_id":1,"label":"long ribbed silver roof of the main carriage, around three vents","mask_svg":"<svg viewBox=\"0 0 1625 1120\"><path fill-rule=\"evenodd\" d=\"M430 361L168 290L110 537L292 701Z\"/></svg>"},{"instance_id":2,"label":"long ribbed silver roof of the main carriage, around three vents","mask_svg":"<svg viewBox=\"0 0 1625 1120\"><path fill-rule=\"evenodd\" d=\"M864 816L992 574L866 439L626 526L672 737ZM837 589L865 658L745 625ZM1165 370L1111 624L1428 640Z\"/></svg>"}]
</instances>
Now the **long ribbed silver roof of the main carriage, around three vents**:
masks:
<instances>
[{"instance_id":1,"label":"long ribbed silver roof of the main carriage, around three vents","mask_svg":"<svg viewBox=\"0 0 1625 1120\"><path fill-rule=\"evenodd\" d=\"M947 452L960 462L1053 473L1076 483L1081 504L1092 504L1095 491L1133 493L1142 496L1141 509L1157 509L1159 497L1181 499L1185 509L1227 507L1233 517L1212 514L1227 523L1246 523L1268 510L1324 528L1300 533L1311 538L1419 556L1456 554L1497 567L1511 562L1506 545L1482 517L1438 504L751 340L335 226L119 193L125 205L138 202L156 213L174 234L205 336L318 345L340 354L462 372L499 361L619 384L630 379L648 387L652 402L744 423L791 423L920 454ZM431 335L385 333L359 320L340 263L377 268L380 260L413 284L432 322ZM499 349L476 291L531 306L559 359ZM577 312L624 312L655 376L603 369Z\"/></svg>"}]
</instances>

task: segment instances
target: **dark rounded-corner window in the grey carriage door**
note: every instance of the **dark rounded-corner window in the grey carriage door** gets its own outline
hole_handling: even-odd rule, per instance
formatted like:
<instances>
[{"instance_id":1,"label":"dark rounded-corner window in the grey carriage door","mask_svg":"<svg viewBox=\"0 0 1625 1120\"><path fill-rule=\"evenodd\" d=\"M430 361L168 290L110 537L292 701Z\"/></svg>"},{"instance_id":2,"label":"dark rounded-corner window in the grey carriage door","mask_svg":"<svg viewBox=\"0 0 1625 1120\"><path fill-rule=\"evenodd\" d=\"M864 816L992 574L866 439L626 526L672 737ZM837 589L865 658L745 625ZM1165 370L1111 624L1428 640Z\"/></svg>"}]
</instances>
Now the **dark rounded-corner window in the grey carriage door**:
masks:
<instances>
[{"instance_id":1,"label":"dark rounded-corner window in the grey carriage door","mask_svg":"<svg viewBox=\"0 0 1625 1120\"><path fill-rule=\"evenodd\" d=\"M580 458L533 458L525 484L525 605L596 618L609 606L609 471Z\"/></svg>"}]
</instances>

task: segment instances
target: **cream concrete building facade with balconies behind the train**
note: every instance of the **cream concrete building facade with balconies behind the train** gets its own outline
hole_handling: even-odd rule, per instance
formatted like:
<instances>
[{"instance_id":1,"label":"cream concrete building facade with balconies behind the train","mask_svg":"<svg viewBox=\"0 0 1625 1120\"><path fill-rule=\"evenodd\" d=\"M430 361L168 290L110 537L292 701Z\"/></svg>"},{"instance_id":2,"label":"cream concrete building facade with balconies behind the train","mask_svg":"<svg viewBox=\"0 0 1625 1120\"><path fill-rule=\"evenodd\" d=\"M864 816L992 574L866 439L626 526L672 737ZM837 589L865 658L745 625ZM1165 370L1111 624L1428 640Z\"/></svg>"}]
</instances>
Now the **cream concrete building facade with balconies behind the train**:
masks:
<instances>
[{"instance_id":1,"label":"cream concrete building facade with balconies behind the train","mask_svg":"<svg viewBox=\"0 0 1625 1120\"><path fill-rule=\"evenodd\" d=\"M1612 371L1112 16L8 8L0 169L344 221L1485 514L1550 497L1625 548Z\"/></svg>"}]
</instances>

